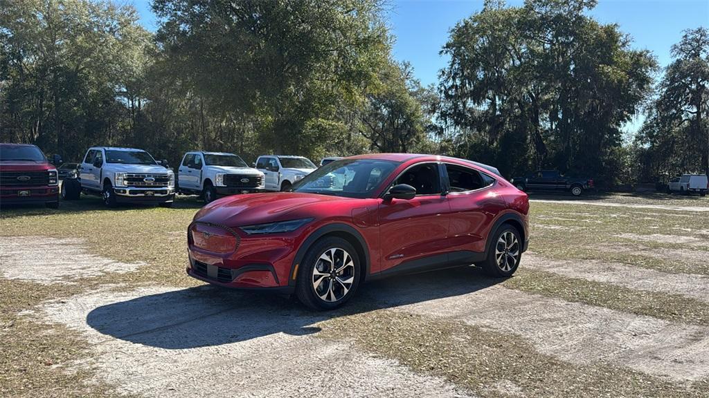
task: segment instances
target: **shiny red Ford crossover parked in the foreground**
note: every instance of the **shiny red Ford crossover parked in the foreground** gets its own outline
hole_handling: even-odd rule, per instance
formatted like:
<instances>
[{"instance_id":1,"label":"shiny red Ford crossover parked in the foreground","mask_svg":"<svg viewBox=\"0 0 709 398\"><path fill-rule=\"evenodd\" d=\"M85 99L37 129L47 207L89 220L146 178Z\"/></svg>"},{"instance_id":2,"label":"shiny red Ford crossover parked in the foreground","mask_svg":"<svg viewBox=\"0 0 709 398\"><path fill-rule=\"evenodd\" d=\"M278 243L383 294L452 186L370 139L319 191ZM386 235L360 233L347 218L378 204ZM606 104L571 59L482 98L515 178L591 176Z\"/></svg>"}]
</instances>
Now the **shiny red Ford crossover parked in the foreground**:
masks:
<instances>
[{"instance_id":1,"label":"shiny red Ford crossover parked in the foreground","mask_svg":"<svg viewBox=\"0 0 709 398\"><path fill-rule=\"evenodd\" d=\"M527 194L496 169L414 154L320 167L289 192L230 196L189 226L187 273L215 285L295 292L313 309L365 280L475 263L512 275L527 249Z\"/></svg>"}]
</instances>

